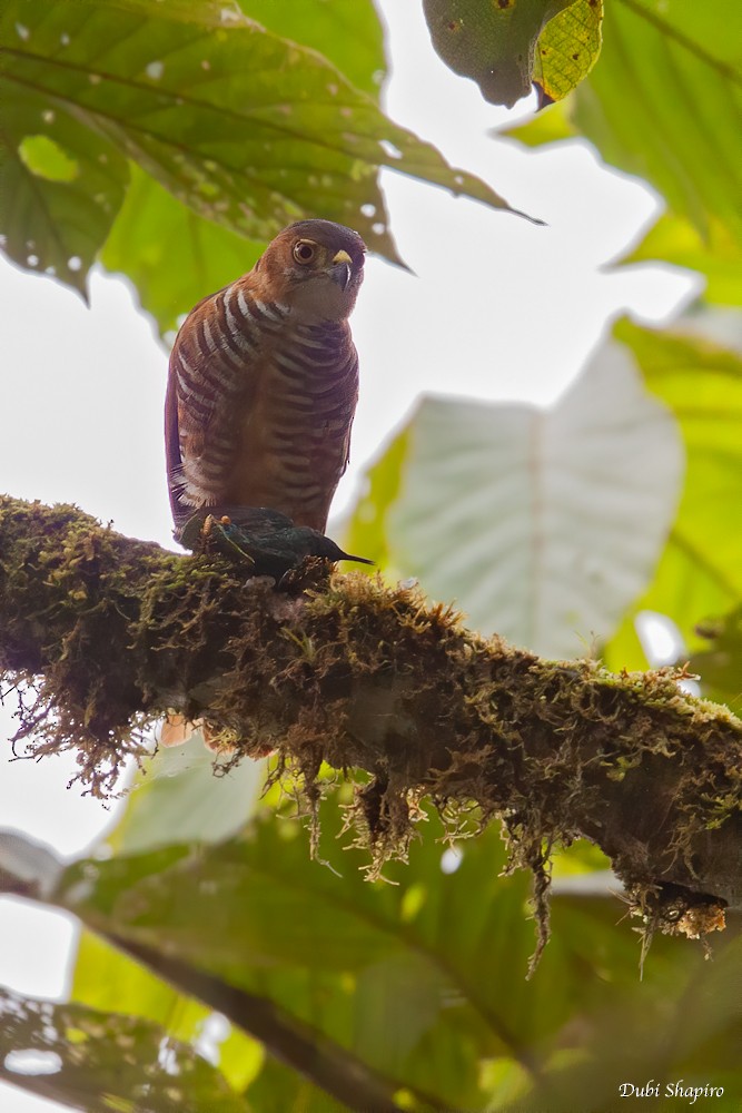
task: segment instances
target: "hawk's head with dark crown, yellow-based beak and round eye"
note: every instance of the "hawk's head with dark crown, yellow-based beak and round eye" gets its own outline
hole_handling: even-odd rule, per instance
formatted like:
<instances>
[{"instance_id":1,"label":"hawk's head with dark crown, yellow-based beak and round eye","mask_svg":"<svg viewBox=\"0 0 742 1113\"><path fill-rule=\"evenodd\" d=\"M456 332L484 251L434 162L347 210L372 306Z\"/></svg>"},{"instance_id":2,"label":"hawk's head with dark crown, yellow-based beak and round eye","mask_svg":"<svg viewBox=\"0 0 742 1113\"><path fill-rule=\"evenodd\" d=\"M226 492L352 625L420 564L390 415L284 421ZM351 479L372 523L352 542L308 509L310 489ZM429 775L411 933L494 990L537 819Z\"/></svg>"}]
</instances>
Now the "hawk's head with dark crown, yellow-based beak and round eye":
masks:
<instances>
[{"instance_id":1,"label":"hawk's head with dark crown, yellow-based beak and round eye","mask_svg":"<svg viewBox=\"0 0 742 1113\"><path fill-rule=\"evenodd\" d=\"M356 304L366 245L332 220L298 220L268 245L256 264L275 301L307 317L344 321Z\"/></svg>"}]
</instances>

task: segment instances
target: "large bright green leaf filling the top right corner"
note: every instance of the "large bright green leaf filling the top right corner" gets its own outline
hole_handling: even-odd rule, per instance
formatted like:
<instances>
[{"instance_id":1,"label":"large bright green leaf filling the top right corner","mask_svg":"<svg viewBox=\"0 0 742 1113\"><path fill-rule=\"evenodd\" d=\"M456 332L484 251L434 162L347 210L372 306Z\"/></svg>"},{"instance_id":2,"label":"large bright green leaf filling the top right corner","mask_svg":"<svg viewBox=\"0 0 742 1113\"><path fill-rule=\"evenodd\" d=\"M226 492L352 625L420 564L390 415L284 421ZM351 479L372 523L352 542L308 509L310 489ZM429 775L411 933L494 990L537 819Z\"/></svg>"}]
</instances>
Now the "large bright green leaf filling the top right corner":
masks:
<instances>
[{"instance_id":1,"label":"large bright green leaf filling the top right corner","mask_svg":"<svg viewBox=\"0 0 742 1113\"><path fill-rule=\"evenodd\" d=\"M598 63L571 102L603 158L646 178L703 239L719 223L742 234L741 38L739 4L613 0ZM531 129L533 142L553 138L538 119L512 134L526 141Z\"/></svg>"}]
</instances>

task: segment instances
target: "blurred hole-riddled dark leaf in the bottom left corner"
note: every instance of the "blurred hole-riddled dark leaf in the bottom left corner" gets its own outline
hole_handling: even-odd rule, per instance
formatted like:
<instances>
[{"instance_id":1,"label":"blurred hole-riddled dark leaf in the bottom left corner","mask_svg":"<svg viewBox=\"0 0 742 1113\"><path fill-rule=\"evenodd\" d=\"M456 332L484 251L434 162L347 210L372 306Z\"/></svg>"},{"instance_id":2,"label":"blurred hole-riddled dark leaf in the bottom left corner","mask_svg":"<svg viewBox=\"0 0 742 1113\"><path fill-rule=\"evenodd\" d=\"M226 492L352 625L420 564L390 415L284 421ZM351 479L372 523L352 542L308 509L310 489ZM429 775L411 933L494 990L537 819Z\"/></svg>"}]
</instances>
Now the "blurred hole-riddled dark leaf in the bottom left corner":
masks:
<instances>
[{"instance_id":1,"label":"blurred hole-riddled dark leaf in the bottom left corner","mask_svg":"<svg viewBox=\"0 0 742 1113\"><path fill-rule=\"evenodd\" d=\"M157 1024L0 989L0 1078L86 1113L247 1113L221 1074Z\"/></svg>"}]
</instances>

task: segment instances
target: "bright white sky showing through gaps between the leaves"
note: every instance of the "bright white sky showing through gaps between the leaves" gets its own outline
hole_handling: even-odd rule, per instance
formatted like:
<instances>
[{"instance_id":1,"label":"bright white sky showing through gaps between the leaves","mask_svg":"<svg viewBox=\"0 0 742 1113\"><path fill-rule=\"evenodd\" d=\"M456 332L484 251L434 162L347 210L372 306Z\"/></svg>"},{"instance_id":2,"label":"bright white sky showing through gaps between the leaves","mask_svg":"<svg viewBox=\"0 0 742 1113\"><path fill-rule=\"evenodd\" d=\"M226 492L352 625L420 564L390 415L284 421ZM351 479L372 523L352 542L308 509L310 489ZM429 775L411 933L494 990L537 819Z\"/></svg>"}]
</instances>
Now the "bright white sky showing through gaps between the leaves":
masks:
<instances>
[{"instance_id":1,"label":"bright white sky showing through gaps between the leaves","mask_svg":"<svg viewBox=\"0 0 742 1113\"><path fill-rule=\"evenodd\" d=\"M493 141L487 129L512 115L486 105L472 82L438 61L422 4L382 0L380 7L393 59L389 115L548 227L384 174L392 227L415 276L374 258L367 265L353 322L362 394L352 466L335 504L340 512L421 391L550 402L610 317L631 309L662 321L699 288L687 273L667 267L602 273L655 219L654 196L602 169L578 144L531 152ZM88 309L56 283L0 263L0 487L76 502L123 533L168 544L167 355L127 283L98 272L90 294ZM0 740L12 729L9 710L0 709ZM0 764L0 826L62 855L81 854L111 812L67 789L73 772L72 758ZM63 994L75 938L71 917L0 898L0 983L31 995ZM1 1084L0 1106L59 1109Z\"/></svg>"}]
</instances>

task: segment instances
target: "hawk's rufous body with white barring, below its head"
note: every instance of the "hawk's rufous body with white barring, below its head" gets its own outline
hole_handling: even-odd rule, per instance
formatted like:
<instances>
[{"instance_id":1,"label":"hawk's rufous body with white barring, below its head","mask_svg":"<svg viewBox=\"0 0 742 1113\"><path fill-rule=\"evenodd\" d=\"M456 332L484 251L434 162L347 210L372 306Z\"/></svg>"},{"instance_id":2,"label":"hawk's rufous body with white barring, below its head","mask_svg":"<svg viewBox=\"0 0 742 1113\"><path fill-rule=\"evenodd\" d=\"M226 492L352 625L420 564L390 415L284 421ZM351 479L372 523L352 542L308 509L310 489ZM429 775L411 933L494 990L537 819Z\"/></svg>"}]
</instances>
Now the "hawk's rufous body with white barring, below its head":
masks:
<instances>
[{"instance_id":1,"label":"hawk's rufous body with white barring, below its head","mask_svg":"<svg viewBox=\"0 0 742 1113\"><path fill-rule=\"evenodd\" d=\"M255 296L245 278L205 298L170 357L166 440L176 523L229 503L270 506L324 532L357 395L347 321L301 318Z\"/></svg>"}]
</instances>

